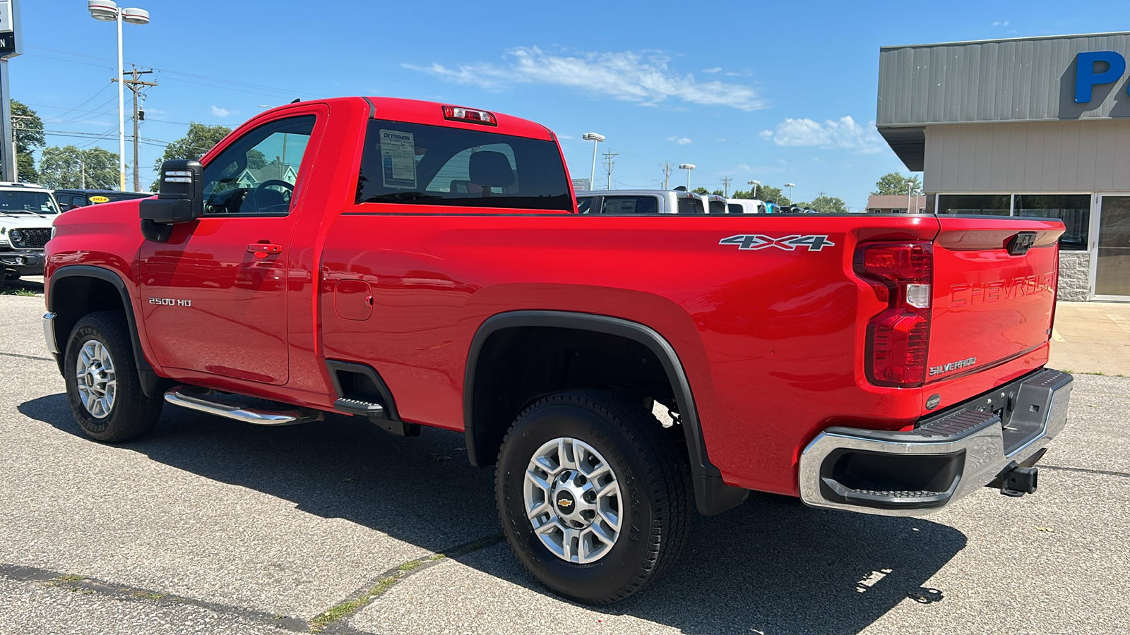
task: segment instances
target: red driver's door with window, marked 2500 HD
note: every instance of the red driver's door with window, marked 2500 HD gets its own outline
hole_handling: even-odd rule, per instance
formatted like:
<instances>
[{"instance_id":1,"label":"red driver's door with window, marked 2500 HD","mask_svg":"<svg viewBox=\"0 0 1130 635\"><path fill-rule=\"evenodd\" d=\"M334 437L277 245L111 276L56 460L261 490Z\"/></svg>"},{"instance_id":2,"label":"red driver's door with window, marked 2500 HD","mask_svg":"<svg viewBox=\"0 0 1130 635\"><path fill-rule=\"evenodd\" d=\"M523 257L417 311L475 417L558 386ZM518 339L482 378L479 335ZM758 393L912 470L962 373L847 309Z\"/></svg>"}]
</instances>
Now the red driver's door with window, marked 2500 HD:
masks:
<instances>
[{"instance_id":1,"label":"red driver's door with window, marked 2500 HD","mask_svg":"<svg viewBox=\"0 0 1130 635\"><path fill-rule=\"evenodd\" d=\"M142 244L142 312L162 366L287 382L290 237L323 113L287 110L228 142L203 169L205 215Z\"/></svg>"}]
</instances>

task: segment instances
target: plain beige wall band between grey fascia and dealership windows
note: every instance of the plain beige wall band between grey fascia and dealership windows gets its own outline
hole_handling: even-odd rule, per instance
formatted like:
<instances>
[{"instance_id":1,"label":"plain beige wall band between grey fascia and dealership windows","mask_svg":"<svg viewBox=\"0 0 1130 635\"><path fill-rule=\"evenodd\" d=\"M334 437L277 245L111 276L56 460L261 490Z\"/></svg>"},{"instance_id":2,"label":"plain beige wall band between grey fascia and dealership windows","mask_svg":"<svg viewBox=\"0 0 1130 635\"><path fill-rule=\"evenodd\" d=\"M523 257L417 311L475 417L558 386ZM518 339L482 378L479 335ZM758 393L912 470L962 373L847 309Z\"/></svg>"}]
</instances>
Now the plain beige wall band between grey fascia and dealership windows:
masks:
<instances>
[{"instance_id":1,"label":"plain beige wall band between grey fascia and dealership windows","mask_svg":"<svg viewBox=\"0 0 1130 635\"><path fill-rule=\"evenodd\" d=\"M928 125L927 192L1130 192L1130 121Z\"/></svg>"}]
</instances>

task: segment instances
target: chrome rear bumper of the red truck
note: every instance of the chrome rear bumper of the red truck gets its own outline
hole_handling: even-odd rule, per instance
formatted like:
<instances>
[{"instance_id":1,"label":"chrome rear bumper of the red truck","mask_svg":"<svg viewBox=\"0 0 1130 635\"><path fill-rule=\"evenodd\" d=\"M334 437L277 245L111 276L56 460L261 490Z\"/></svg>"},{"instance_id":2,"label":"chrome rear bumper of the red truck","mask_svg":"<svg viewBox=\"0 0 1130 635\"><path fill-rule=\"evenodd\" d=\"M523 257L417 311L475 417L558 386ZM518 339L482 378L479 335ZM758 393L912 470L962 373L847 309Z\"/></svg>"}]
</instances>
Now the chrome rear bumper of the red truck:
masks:
<instances>
[{"instance_id":1,"label":"chrome rear bumper of the red truck","mask_svg":"<svg viewBox=\"0 0 1130 635\"><path fill-rule=\"evenodd\" d=\"M800 455L800 497L814 507L884 515L940 510L1037 461L1067 425L1072 381L1037 371L909 432L827 428Z\"/></svg>"}]
</instances>

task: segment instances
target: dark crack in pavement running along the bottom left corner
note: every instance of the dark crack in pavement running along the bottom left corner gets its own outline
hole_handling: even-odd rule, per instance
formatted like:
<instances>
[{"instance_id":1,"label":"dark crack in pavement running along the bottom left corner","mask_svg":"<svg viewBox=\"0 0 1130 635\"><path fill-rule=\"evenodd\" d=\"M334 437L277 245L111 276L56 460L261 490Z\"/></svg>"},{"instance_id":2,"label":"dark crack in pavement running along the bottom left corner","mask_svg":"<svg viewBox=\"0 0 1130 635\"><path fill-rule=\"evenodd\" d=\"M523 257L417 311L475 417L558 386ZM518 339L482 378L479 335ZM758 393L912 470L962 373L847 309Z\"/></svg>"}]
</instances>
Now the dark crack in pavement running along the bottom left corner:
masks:
<instances>
[{"instance_id":1,"label":"dark crack in pavement running along the bottom left corner","mask_svg":"<svg viewBox=\"0 0 1130 635\"><path fill-rule=\"evenodd\" d=\"M310 625L304 619L286 617L267 611L209 602L185 598L173 593L150 591L127 584L116 584L96 577L63 574L38 567L27 567L0 563L0 576L17 582L40 582L50 586L60 586L72 591L87 592L96 598L111 598L118 601L151 602L162 606L191 606L221 616L238 617L258 624L273 626L295 633L306 633Z\"/></svg>"}]
</instances>

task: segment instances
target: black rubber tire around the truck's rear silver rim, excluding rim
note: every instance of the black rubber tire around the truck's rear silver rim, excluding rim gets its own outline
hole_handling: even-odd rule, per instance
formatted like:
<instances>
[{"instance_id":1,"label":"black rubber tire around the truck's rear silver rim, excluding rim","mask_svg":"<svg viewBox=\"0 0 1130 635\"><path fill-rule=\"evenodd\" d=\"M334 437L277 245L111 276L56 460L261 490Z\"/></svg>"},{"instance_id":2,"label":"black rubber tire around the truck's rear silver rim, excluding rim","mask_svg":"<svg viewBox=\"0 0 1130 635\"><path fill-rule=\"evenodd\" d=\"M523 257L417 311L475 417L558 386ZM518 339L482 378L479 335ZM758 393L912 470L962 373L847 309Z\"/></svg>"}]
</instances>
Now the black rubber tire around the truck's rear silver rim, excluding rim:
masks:
<instances>
[{"instance_id":1,"label":"black rubber tire around the truck's rear silver rim, excluding rim","mask_svg":"<svg viewBox=\"0 0 1130 635\"><path fill-rule=\"evenodd\" d=\"M600 390L547 397L518 417L498 453L495 494L511 549L539 582L577 602L627 598L660 577L686 545L693 505L687 462L637 401ZM621 510L631 510L612 547L593 563L556 556L525 515L527 468L542 444L558 437L597 450L620 484Z\"/></svg>"}]
</instances>

